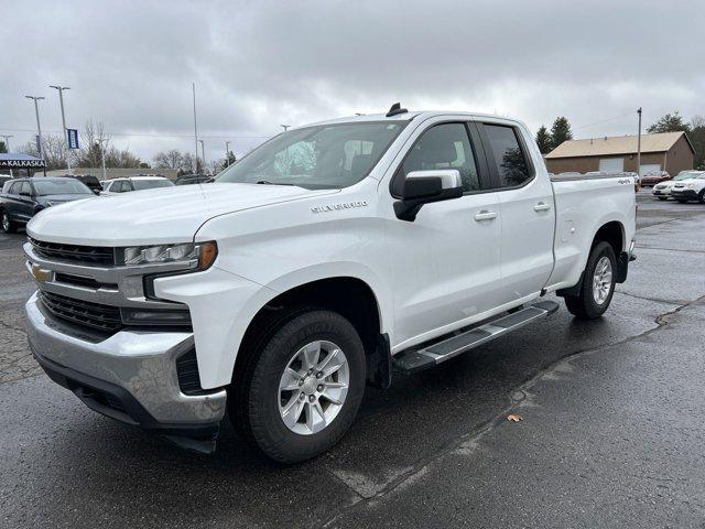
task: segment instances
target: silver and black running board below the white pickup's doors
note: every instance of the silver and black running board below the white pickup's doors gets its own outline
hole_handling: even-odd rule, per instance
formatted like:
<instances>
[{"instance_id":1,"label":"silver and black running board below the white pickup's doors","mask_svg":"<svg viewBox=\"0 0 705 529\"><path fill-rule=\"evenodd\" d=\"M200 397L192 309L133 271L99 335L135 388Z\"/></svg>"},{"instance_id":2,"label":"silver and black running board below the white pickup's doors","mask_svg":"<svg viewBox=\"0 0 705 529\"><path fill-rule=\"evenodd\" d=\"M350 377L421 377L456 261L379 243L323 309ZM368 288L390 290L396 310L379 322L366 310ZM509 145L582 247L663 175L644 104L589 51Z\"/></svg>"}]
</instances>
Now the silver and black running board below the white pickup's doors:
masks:
<instances>
[{"instance_id":1,"label":"silver and black running board below the white pickup's doors","mask_svg":"<svg viewBox=\"0 0 705 529\"><path fill-rule=\"evenodd\" d=\"M558 304L556 302L540 301L422 349L401 353L393 358L394 368L404 373L427 369L487 342L499 338L507 333L511 333L519 327L523 327L534 320L553 314L557 310Z\"/></svg>"}]
</instances>

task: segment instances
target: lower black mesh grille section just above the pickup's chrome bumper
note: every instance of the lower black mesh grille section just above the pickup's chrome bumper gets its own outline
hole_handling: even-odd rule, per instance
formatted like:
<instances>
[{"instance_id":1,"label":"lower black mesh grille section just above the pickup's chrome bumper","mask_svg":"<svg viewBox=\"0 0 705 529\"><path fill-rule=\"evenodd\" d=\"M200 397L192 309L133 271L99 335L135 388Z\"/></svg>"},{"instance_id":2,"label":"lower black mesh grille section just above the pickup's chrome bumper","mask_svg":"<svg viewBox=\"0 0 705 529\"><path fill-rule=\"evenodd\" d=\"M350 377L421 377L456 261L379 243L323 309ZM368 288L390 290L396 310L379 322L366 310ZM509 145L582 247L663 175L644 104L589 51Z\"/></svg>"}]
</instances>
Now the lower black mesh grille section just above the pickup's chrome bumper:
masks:
<instances>
[{"instance_id":1,"label":"lower black mesh grille section just above the pickup's chrome bumper","mask_svg":"<svg viewBox=\"0 0 705 529\"><path fill-rule=\"evenodd\" d=\"M90 303L51 292L40 292L44 306L56 317L77 325L115 333L122 328L120 309L117 306Z\"/></svg>"}]
</instances>

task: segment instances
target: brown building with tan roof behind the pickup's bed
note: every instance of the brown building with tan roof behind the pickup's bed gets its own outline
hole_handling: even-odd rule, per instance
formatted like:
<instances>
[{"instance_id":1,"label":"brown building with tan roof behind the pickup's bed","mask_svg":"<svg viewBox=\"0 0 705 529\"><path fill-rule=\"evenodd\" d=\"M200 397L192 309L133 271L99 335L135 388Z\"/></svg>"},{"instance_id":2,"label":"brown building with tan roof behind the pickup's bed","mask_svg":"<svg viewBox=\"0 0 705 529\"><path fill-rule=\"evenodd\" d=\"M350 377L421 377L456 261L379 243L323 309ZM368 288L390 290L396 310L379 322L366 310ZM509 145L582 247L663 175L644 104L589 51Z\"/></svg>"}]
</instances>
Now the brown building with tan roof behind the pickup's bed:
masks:
<instances>
[{"instance_id":1,"label":"brown building with tan roof behind the pickup's bed","mask_svg":"<svg viewBox=\"0 0 705 529\"><path fill-rule=\"evenodd\" d=\"M695 150L685 132L641 136L639 174L668 171L671 175L693 169ZM637 137L590 138L564 141L545 155L551 173L588 171L637 172Z\"/></svg>"}]
</instances>

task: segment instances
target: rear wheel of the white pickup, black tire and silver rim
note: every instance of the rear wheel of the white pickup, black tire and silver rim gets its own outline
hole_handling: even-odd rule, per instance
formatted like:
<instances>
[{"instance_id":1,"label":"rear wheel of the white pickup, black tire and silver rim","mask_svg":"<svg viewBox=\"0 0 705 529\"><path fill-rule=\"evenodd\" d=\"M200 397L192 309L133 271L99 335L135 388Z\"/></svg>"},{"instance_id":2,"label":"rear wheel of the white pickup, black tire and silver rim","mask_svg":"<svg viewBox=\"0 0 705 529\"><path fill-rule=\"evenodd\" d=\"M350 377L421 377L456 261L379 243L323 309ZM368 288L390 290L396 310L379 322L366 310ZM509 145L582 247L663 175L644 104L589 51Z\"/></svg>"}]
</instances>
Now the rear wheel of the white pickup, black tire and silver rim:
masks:
<instances>
[{"instance_id":1,"label":"rear wheel of the white pickup, black tire and silver rim","mask_svg":"<svg viewBox=\"0 0 705 529\"><path fill-rule=\"evenodd\" d=\"M615 293L617 258L615 250L605 241L590 250L577 295L566 295L565 305L571 314L584 320L601 316Z\"/></svg>"}]
</instances>

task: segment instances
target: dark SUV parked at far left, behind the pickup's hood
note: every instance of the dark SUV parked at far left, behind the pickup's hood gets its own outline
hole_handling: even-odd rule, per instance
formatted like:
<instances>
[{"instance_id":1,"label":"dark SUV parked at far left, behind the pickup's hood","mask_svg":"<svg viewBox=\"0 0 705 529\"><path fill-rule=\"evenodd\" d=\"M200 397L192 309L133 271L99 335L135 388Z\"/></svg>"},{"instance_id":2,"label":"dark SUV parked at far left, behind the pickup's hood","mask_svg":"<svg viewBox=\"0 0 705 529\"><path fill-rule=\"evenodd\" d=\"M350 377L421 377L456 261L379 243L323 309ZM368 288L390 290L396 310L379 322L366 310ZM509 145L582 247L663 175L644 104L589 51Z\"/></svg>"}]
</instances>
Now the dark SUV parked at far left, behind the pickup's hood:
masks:
<instances>
[{"instance_id":1,"label":"dark SUV parked at far left, behind the pickup's hood","mask_svg":"<svg viewBox=\"0 0 705 529\"><path fill-rule=\"evenodd\" d=\"M46 207L91 196L94 193L76 179L13 179L4 184L0 194L2 230L11 234Z\"/></svg>"}]
</instances>

